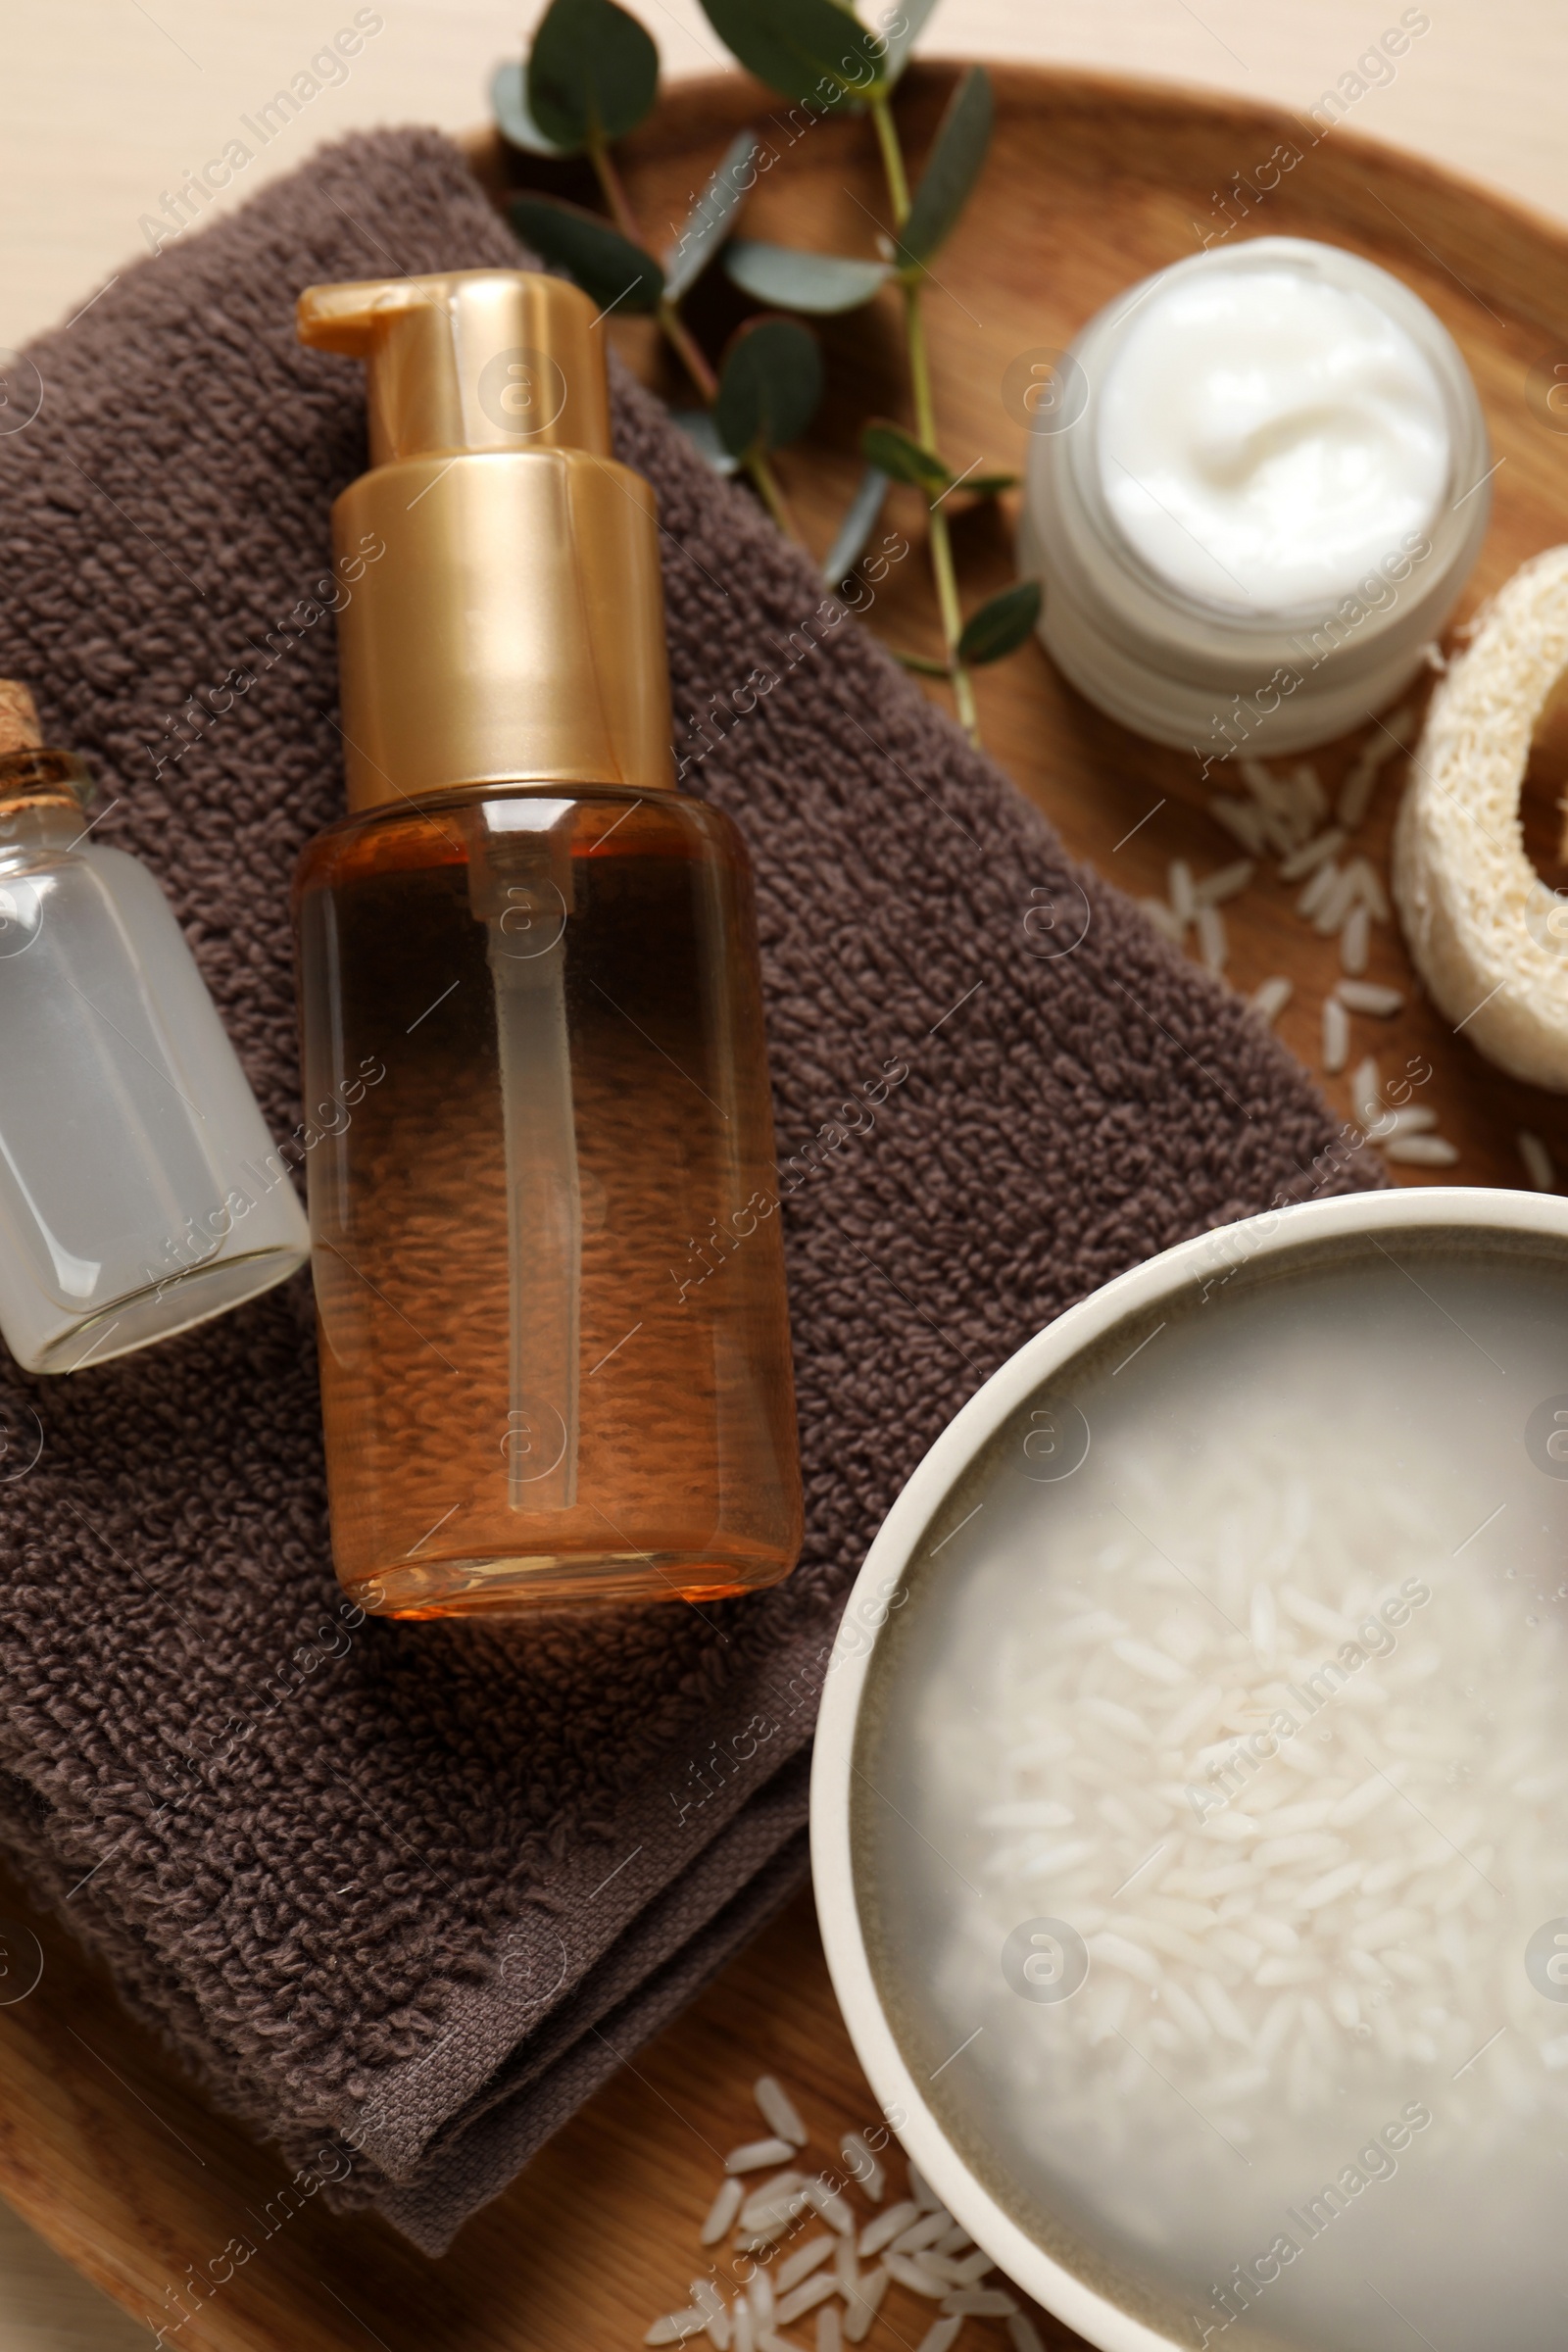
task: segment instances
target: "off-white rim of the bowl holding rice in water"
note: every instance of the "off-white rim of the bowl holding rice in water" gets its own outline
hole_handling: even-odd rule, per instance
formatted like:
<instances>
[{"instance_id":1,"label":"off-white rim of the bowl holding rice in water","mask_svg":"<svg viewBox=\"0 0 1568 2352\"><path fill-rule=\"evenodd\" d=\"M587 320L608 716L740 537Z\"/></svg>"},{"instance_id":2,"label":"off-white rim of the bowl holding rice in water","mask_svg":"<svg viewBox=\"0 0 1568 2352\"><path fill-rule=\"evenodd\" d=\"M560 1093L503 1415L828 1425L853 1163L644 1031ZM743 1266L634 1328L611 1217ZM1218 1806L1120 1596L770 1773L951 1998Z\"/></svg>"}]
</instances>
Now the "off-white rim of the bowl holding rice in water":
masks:
<instances>
[{"instance_id":1,"label":"off-white rim of the bowl holding rice in water","mask_svg":"<svg viewBox=\"0 0 1568 2352\"><path fill-rule=\"evenodd\" d=\"M1065 1308L976 1390L910 1472L865 1555L835 1635L811 1762L811 1877L827 1973L849 2039L886 2124L954 2220L1009 2279L1100 2352L1192 2347L1135 2319L1065 2270L973 2176L905 2065L865 1952L849 1839L851 1780L860 1700L889 1616L886 1604L943 1496L1009 1414L1128 1312L1175 1296L1194 1277L1295 1254L1319 1240L1443 1228L1568 1242L1568 1197L1490 1185L1410 1185L1298 1202L1175 1242Z\"/></svg>"}]
</instances>

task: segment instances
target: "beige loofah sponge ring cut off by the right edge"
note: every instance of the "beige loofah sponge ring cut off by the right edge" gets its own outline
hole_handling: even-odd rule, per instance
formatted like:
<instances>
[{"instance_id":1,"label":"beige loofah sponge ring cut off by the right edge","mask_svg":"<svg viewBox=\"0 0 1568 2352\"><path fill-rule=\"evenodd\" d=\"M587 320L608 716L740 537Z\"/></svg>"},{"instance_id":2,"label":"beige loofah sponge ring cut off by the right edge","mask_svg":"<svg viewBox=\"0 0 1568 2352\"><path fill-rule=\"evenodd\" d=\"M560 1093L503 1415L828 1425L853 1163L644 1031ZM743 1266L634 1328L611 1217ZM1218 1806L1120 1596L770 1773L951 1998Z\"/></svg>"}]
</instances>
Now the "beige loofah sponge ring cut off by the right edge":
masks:
<instances>
[{"instance_id":1,"label":"beige loofah sponge ring cut off by the right edge","mask_svg":"<svg viewBox=\"0 0 1568 2352\"><path fill-rule=\"evenodd\" d=\"M1432 696L1394 828L1394 898L1436 1007L1514 1077L1568 1094L1568 896L1523 851L1519 790L1568 670L1568 548L1535 555Z\"/></svg>"}]
</instances>

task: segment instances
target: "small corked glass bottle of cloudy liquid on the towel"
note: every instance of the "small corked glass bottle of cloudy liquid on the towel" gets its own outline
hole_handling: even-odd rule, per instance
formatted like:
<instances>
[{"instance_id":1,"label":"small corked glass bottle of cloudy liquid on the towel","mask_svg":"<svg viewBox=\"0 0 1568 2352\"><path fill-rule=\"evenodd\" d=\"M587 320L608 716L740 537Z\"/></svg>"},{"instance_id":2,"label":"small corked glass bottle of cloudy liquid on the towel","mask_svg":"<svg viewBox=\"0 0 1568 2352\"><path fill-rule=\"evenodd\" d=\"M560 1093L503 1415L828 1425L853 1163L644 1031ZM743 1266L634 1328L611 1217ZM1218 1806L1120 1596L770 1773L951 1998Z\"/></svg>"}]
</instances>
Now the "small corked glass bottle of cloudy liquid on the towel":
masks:
<instances>
[{"instance_id":1,"label":"small corked glass bottle of cloudy liquid on the towel","mask_svg":"<svg viewBox=\"0 0 1568 2352\"><path fill-rule=\"evenodd\" d=\"M282 1157L153 875L0 680L0 1334L80 1371L306 1258Z\"/></svg>"}]
</instances>

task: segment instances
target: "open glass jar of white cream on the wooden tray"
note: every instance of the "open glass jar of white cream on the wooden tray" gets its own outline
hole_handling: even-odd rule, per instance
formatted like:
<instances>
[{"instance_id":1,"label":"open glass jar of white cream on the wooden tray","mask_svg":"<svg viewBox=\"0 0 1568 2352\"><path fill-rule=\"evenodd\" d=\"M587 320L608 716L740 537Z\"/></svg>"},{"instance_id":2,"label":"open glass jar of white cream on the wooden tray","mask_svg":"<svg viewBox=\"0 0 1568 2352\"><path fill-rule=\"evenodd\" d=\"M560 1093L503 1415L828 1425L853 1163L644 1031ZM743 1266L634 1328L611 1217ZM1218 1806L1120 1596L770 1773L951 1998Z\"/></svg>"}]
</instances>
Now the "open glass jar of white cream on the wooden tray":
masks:
<instances>
[{"instance_id":1,"label":"open glass jar of white cream on the wooden tray","mask_svg":"<svg viewBox=\"0 0 1568 2352\"><path fill-rule=\"evenodd\" d=\"M1034 374L1018 557L1091 703L1220 760L1326 743L1413 677L1481 548L1490 452L1408 287L1253 238L1145 278Z\"/></svg>"}]
</instances>

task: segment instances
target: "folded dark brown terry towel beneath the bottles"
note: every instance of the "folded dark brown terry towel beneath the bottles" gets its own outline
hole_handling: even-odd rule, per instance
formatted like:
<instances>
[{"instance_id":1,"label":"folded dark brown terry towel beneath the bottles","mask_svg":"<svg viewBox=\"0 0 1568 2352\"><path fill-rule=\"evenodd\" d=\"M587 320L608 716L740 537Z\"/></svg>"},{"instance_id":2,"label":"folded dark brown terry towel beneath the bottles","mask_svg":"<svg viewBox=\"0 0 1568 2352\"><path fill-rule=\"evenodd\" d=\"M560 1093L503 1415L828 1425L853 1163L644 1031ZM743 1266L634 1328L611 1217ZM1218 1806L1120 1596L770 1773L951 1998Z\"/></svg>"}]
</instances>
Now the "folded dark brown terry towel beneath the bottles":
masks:
<instances>
[{"instance_id":1,"label":"folded dark brown terry towel beneath the bottles","mask_svg":"<svg viewBox=\"0 0 1568 2352\"><path fill-rule=\"evenodd\" d=\"M0 435L0 673L96 762L296 1160L287 891L343 807L320 593L364 426L294 296L517 261L444 139L346 141L42 339ZM0 1374L0 1835L226 2107L428 2251L799 1879L842 1595L973 1388L1150 1251L1378 1181L623 376L616 430L661 496L686 788L757 866L799 1571L703 1613L360 1621L303 1277Z\"/></svg>"}]
</instances>

